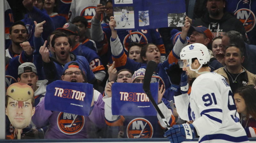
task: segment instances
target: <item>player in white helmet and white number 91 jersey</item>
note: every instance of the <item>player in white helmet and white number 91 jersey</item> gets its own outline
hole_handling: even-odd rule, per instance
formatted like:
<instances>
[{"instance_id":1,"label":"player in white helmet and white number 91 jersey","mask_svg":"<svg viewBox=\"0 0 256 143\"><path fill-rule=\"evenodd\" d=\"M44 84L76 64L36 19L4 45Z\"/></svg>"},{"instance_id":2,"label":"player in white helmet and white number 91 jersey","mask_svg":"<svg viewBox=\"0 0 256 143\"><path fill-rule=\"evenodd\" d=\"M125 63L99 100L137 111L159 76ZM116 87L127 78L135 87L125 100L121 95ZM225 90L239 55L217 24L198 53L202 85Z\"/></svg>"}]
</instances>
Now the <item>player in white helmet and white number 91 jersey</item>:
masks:
<instances>
[{"instance_id":1,"label":"player in white helmet and white number 91 jersey","mask_svg":"<svg viewBox=\"0 0 256 143\"><path fill-rule=\"evenodd\" d=\"M181 79L177 80L169 75L171 89L176 91L174 100L179 116L183 120L189 120L190 114L194 121L192 124L173 125L165 132L164 136L171 143L193 139L196 132L202 143L249 142L239 123L231 88L225 78L208 69L210 57L209 50L203 44L190 44L180 52L180 59L183 61ZM186 74L190 78L196 78L189 96ZM188 111L188 107L191 111Z\"/></svg>"}]
</instances>

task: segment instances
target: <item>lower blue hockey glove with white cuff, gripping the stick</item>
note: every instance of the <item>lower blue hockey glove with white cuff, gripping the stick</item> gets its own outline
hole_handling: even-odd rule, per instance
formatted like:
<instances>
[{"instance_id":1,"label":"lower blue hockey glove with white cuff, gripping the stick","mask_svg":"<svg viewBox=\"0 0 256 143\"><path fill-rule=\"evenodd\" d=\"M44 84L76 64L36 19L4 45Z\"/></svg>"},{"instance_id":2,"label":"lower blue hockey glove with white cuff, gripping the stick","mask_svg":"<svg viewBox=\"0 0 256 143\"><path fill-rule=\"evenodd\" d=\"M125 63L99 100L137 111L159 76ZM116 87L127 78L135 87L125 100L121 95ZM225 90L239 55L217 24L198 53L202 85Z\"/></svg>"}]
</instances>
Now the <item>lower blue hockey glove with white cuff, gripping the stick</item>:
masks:
<instances>
[{"instance_id":1,"label":"lower blue hockey glove with white cuff, gripping the stick","mask_svg":"<svg viewBox=\"0 0 256 143\"><path fill-rule=\"evenodd\" d=\"M186 139L195 138L195 127L193 124L173 125L172 128L164 133L171 143L181 143Z\"/></svg>"}]
</instances>

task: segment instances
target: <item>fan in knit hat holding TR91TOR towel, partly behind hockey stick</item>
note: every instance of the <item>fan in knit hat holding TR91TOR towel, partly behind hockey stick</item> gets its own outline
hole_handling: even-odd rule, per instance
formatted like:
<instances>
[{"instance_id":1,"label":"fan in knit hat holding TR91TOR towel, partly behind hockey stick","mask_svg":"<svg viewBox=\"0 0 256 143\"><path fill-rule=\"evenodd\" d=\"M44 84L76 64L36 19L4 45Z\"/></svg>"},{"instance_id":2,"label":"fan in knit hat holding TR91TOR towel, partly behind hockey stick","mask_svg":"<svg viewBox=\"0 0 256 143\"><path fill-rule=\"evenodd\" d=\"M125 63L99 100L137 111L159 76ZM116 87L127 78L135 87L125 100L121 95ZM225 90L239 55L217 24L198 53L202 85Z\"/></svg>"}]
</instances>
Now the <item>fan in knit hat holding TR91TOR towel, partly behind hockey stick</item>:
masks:
<instances>
[{"instance_id":1,"label":"fan in knit hat holding TR91TOR towel, partly behind hockey stick","mask_svg":"<svg viewBox=\"0 0 256 143\"><path fill-rule=\"evenodd\" d=\"M114 138L161 138L165 124L150 103L142 89L145 67L135 71L132 83L108 82L105 88L105 119L109 126L120 126ZM123 76L124 78L124 76ZM134 84L138 83L138 84ZM158 90L158 83L151 84L151 92L169 124L175 124L172 109L163 97L163 85ZM113 107L113 108L112 108Z\"/></svg>"}]
</instances>

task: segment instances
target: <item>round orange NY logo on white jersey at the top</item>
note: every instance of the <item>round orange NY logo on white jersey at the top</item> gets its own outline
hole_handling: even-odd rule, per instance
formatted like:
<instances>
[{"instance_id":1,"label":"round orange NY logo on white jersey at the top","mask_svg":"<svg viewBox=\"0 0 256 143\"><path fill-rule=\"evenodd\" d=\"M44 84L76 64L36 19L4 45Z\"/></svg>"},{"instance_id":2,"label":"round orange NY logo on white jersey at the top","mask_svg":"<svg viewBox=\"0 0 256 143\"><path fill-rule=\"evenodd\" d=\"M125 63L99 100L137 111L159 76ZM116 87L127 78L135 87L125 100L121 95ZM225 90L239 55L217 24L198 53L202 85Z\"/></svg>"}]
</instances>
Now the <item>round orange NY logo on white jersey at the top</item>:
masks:
<instances>
[{"instance_id":1,"label":"round orange NY logo on white jersey at the top","mask_svg":"<svg viewBox=\"0 0 256 143\"><path fill-rule=\"evenodd\" d=\"M80 14L80 16L83 16L88 21L88 28L91 28L92 17L96 14L95 9L96 9L96 6L89 6L84 8ZM101 14L100 21L102 21L102 19L103 19L103 14Z\"/></svg>"}]
</instances>

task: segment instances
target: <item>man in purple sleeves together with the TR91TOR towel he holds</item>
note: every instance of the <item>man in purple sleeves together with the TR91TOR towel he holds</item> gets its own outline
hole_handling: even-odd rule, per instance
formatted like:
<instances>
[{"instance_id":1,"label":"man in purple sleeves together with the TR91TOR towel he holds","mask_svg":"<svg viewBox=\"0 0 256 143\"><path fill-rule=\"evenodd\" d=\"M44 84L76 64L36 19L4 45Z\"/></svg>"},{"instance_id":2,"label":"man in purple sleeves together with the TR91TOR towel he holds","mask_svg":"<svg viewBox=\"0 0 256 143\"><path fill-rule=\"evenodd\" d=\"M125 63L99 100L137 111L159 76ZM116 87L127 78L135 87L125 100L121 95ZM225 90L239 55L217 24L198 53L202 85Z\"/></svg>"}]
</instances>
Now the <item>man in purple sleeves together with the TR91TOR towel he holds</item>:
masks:
<instances>
[{"instance_id":1,"label":"man in purple sleeves together with the TR91TOR towel he holds","mask_svg":"<svg viewBox=\"0 0 256 143\"><path fill-rule=\"evenodd\" d=\"M45 139L97 138L97 127L106 125L102 95L85 83L84 70L74 61L65 64L61 79L46 87L32 122L50 124Z\"/></svg>"}]
</instances>

